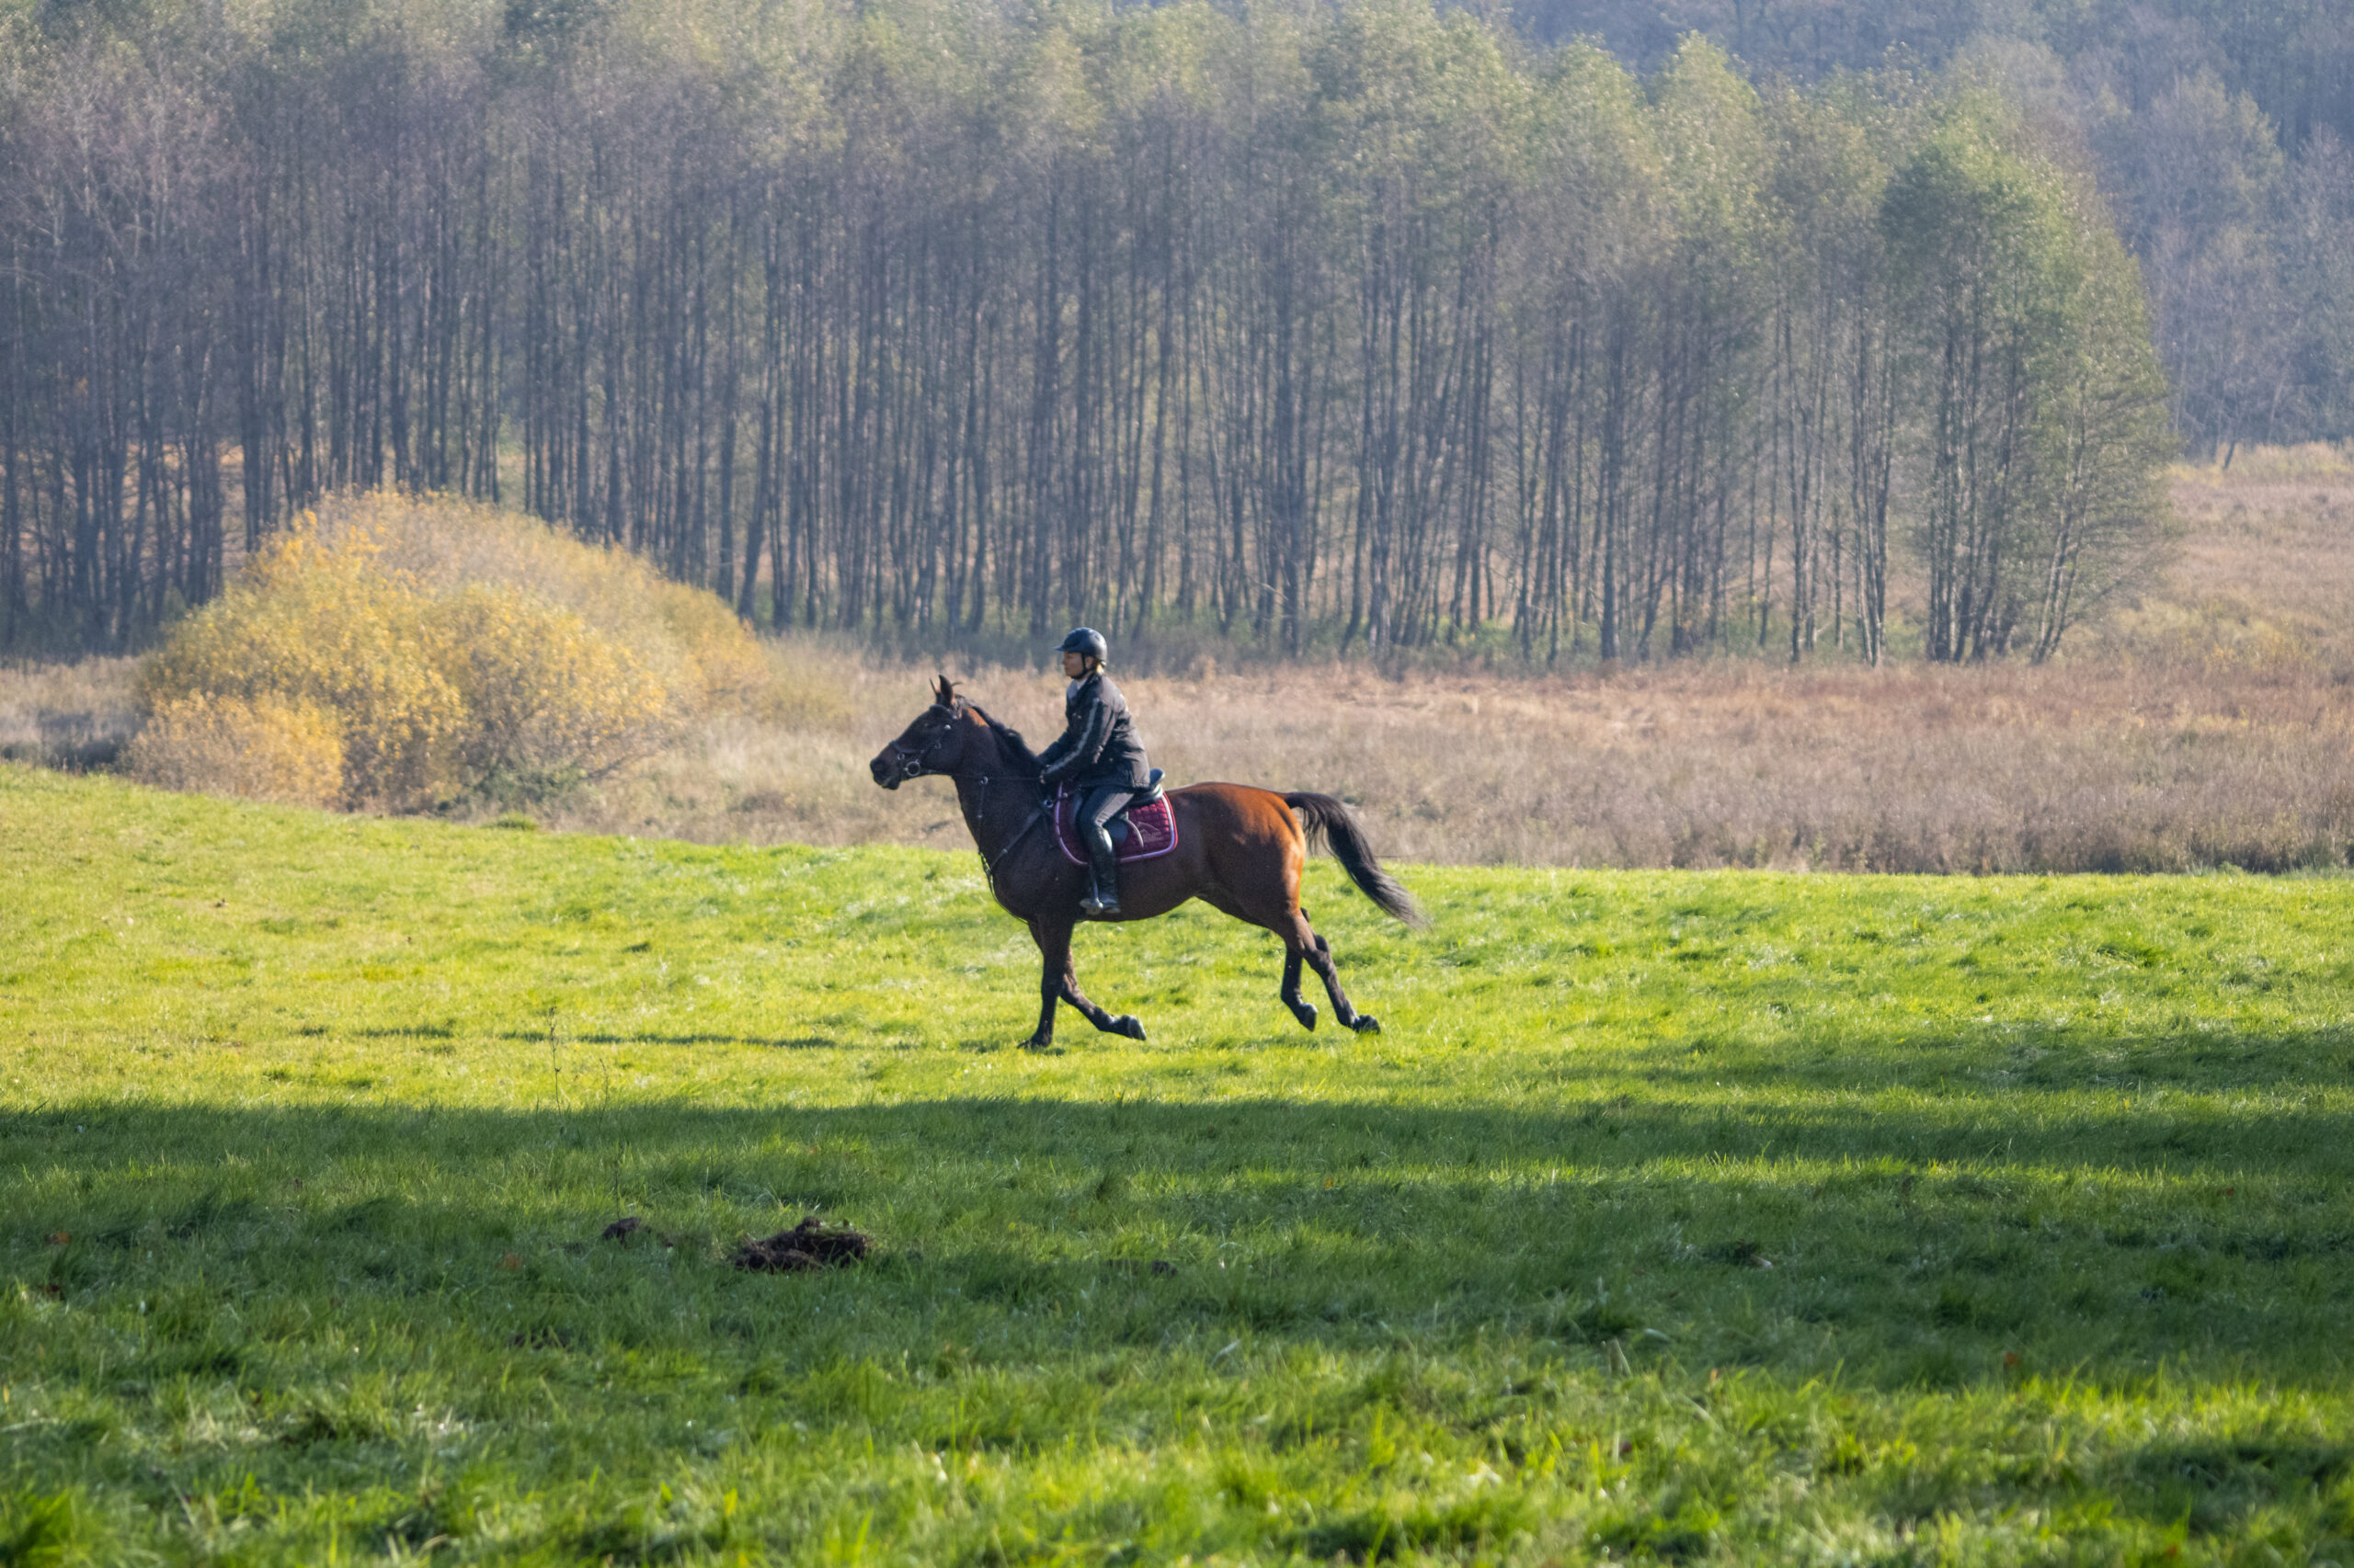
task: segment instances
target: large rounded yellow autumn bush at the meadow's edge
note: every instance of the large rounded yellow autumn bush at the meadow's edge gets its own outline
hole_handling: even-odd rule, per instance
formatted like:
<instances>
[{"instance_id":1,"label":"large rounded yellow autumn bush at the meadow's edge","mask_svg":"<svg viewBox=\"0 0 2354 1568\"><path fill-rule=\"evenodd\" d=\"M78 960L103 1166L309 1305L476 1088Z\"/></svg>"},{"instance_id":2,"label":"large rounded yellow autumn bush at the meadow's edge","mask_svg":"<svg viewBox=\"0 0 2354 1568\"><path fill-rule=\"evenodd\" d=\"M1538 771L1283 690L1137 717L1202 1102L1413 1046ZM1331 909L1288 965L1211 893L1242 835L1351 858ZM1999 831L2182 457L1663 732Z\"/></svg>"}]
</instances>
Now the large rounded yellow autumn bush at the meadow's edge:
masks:
<instances>
[{"instance_id":1,"label":"large rounded yellow autumn bush at the meadow's edge","mask_svg":"<svg viewBox=\"0 0 2354 1568\"><path fill-rule=\"evenodd\" d=\"M195 699L325 713L332 793L414 808L501 775L610 772L765 673L718 598L633 556L490 506L374 492L330 499L259 551L146 659L139 697L158 756L179 735L167 716ZM200 756L169 777L240 793L205 784Z\"/></svg>"}]
</instances>

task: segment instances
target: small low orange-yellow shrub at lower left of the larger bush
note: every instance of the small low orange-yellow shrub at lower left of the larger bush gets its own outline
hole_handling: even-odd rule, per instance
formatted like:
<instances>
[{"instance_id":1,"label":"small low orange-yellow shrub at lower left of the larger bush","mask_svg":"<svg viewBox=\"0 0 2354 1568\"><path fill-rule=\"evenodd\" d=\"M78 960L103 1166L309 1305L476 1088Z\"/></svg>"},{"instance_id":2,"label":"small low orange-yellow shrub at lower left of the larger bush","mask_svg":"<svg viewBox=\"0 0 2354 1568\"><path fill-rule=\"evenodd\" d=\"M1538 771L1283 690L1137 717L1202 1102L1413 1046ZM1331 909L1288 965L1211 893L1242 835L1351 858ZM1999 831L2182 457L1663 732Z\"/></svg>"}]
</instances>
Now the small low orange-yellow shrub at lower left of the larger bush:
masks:
<instances>
[{"instance_id":1,"label":"small low orange-yellow shrub at lower left of the larger bush","mask_svg":"<svg viewBox=\"0 0 2354 1568\"><path fill-rule=\"evenodd\" d=\"M155 709L125 751L132 777L247 800L332 805L344 793L334 716L278 697L195 692Z\"/></svg>"}]
</instances>

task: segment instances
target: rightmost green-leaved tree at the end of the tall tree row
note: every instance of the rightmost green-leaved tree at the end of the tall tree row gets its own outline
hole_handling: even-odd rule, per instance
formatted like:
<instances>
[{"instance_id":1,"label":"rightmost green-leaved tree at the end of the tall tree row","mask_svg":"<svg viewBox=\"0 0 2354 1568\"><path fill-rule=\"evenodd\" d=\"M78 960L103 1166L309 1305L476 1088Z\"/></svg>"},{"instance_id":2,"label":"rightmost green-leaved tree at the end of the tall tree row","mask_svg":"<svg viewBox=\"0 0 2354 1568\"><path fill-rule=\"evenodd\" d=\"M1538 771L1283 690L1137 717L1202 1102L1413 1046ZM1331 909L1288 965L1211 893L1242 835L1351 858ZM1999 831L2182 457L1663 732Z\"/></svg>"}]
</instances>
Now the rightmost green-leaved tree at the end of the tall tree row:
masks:
<instances>
[{"instance_id":1,"label":"rightmost green-leaved tree at the end of the tall tree row","mask_svg":"<svg viewBox=\"0 0 2354 1568\"><path fill-rule=\"evenodd\" d=\"M1895 177L1883 231L1923 407L1928 657L1984 659L2069 622L2147 560L2168 452L2133 261L2097 207L1975 115Z\"/></svg>"}]
</instances>

